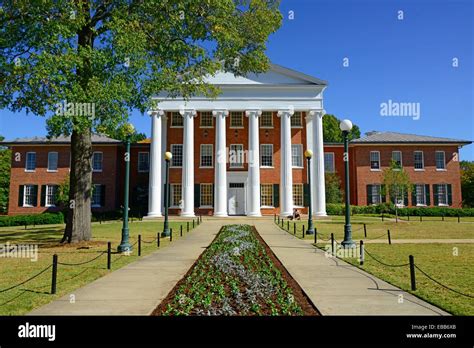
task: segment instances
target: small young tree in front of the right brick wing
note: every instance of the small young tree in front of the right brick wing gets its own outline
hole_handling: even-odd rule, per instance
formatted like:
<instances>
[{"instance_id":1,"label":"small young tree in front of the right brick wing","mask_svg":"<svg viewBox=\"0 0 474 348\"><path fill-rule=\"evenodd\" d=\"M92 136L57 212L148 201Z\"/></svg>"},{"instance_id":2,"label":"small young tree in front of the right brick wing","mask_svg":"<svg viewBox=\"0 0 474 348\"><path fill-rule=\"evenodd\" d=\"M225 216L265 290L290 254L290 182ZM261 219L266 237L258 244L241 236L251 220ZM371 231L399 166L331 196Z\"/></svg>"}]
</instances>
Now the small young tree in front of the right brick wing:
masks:
<instances>
[{"instance_id":1,"label":"small young tree in front of the right brick wing","mask_svg":"<svg viewBox=\"0 0 474 348\"><path fill-rule=\"evenodd\" d=\"M390 161L390 166L382 172L384 191L382 194L388 194L390 200L395 204L395 214L398 216L399 202L410 194L413 184L408 173L400 167L395 161Z\"/></svg>"}]
</instances>

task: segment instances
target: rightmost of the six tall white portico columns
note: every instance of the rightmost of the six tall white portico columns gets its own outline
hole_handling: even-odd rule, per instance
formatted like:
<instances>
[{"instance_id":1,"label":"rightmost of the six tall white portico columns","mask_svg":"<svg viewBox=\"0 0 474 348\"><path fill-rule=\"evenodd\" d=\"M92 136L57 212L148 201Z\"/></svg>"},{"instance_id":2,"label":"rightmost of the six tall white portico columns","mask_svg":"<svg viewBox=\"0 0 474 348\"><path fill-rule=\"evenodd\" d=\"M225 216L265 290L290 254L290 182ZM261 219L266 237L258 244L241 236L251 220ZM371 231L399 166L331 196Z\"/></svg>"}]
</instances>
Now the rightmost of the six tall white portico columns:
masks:
<instances>
[{"instance_id":1,"label":"rightmost of the six tall white portico columns","mask_svg":"<svg viewBox=\"0 0 474 348\"><path fill-rule=\"evenodd\" d=\"M309 114L313 116L313 154L314 159L314 184L312 187L315 195L314 215L326 216L326 186L324 178L324 142L323 142L323 115L321 109L310 110Z\"/></svg>"}]
</instances>

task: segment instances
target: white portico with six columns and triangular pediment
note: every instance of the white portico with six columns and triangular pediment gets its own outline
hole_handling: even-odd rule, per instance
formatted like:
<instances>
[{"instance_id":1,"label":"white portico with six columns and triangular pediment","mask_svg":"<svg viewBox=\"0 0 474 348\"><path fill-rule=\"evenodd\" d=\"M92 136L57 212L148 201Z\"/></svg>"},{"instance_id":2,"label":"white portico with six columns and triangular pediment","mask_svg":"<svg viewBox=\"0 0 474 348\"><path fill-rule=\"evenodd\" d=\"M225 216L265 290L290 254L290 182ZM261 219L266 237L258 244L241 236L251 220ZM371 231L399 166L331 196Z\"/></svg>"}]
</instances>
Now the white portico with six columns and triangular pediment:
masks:
<instances>
[{"instance_id":1,"label":"white portico with six columns and triangular pediment","mask_svg":"<svg viewBox=\"0 0 474 348\"><path fill-rule=\"evenodd\" d=\"M152 124L150 151L149 182L149 217L161 216L163 209L164 153L170 151L170 136L167 134L167 115L179 112L182 122L182 166L180 214L192 217L199 209L195 200L195 185L201 183L200 173L203 169L195 165L195 154L199 153L202 139L195 137L194 125L196 116L201 112L212 113L215 132L212 142L213 183L212 213L215 216L247 215L261 216L261 187L265 184L265 175L272 170L264 166L261 144L268 140L261 139L263 131L260 123L262 112L274 112L278 118L278 137L271 144L274 154L279 151L278 191L272 192L278 201L279 213L291 215L293 207L293 172L295 170L292 145L298 144L292 139L292 116L305 115L302 128L305 131L303 151L311 149L314 153L311 161L311 197L313 215L326 215L324 188L324 150L322 116L323 91L326 82L317 78L278 66L262 74L249 74L246 77L235 77L231 73L221 72L208 78L208 83L217 85L221 94L216 99L195 96L189 100L168 98L158 95L158 109L149 112ZM229 115L242 112L246 118L245 151L247 151L246 170L232 170L228 165ZM277 122L277 121L275 121ZM243 127L242 127L243 128ZM207 133L206 133L207 134ZM233 135L233 134L232 134ZM264 137L265 138L265 137ZM299 139L299 138L298 138ZM266 149L267 151L268 149ZM274 155L272 154L272 155ZM302 154L301 154L302 155ZM293 158L292 158L293 157ZM209 169L208 169L209 170ZM300 168L301 170L301 168ZM263 172L266 171L266 172ZM265 173L265 174L264 174ZM301 175L298 176L301 178ZM301 179L300 179L301 180ZM198 205L198 206L196 206ZM266 204L268 205L268 204Z\"/></svg>"}]
</instances>

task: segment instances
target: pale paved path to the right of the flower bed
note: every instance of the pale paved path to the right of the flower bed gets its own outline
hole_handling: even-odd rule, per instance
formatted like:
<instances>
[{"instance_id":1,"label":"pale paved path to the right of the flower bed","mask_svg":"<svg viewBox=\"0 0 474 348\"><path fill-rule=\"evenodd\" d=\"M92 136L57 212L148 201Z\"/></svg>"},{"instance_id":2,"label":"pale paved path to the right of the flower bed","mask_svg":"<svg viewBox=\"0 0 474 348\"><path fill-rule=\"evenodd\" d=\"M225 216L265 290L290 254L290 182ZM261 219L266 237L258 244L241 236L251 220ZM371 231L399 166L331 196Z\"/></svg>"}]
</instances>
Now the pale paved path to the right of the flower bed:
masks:
<instances>
[{"instance_id":1,"label":"pale paved path to the right of the flower bed","mask_svg":"<svg viewBox=\"0 0 474 348\"><path fill-rule=\"evenodd\" d=\"M270 220L253 224L323 315L449 315L342 260L326 257Z\"/></svg>"}]
</instances>

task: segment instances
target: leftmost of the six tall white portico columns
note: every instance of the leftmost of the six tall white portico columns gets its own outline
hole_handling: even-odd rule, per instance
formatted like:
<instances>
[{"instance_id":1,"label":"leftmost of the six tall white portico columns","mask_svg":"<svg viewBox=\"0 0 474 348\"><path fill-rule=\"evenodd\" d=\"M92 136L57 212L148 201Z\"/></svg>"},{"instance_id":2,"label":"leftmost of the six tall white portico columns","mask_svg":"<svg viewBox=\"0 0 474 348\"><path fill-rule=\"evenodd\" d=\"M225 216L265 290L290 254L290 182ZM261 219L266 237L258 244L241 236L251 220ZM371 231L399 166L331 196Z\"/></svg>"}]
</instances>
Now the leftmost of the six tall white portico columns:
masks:
<instances>
[{"instance_id":1,"label":"leftmost of the six tall white portico columns","mask_svg":"<svg viewBox=\"0 0 474 348\"><path fill-rule=\"evenodd\" d=\"M150 144L150 172L148 190L148 215L147 217L161 216L161 118L163 110L150 111L151 116L151 144Z\"/></svg>"}]
</instances>

